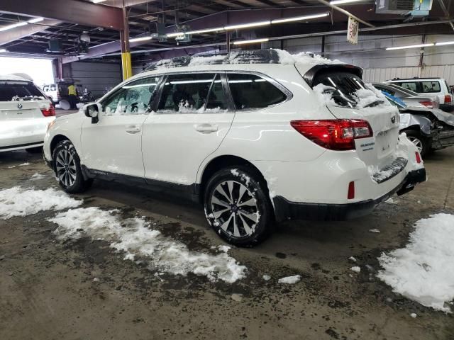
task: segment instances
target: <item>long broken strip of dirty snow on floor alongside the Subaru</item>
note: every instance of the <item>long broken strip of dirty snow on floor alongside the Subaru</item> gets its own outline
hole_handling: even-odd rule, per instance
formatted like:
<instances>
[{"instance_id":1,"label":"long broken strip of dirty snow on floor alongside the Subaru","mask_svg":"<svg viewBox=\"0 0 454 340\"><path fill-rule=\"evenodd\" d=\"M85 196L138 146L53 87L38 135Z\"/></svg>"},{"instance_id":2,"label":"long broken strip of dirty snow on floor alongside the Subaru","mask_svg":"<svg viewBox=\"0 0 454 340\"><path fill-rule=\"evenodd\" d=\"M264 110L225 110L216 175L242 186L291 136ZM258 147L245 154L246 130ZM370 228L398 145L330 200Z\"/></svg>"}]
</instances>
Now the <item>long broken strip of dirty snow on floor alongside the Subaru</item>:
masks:
<instances>
[{"instance_id":1,"label":"long broken strip of dirty snow on floor alongside the Subaru","mask_svg":"<svg viewBox=\"0 0 454 340\"><path fill-rule=\"evenodd\" d=\"M194 273L211 281L234 283L245 277L245 266L240 266L228 256L227 246L220 246L220 253L204 254L189 251L185 244L148 229L150 224L142 218L121 220L118 210L104 211L96 207L78 208L60 212L49 220L58 227L58 239L92 237L110 243L111 248L125 253L124 259L145 261L160 272L187 276Z\"/></svg>"}]
</instances>

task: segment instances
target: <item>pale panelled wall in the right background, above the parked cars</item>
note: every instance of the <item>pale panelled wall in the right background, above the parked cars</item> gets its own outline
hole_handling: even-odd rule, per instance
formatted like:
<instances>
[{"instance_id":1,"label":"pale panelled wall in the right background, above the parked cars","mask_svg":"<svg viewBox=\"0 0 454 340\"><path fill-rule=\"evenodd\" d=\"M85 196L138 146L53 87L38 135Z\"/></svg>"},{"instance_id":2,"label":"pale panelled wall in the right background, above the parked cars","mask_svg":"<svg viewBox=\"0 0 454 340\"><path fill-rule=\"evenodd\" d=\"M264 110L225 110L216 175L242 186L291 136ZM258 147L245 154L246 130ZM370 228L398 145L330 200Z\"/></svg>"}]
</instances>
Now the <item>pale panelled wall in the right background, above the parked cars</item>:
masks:
<instances>
[{"instance_id":1,"label":"pale panelled wall in the right background, above the parked cars","mask_svg":"<svg viewBox=\"0 0 454 340\"><path fill-rule=\"evenodd\" d=\"M427 35L426 42L454 40L454 35ZM426 47L424 67L419 67L420 50L378 50L385 47L416 45L421 35L360 35L358 45L346 42L344 35L325 38L326 57L358 65L365 69L366 81L384 81L395 77L443 77L454 84L454 45ZM280 47L281 42L269 42L267 47ZM321 52L321 37L284 41L289 52ZM363 52L363 51L366 52ZM373 50L367 52L367 50Z\"/></svg>"}]
</instances>

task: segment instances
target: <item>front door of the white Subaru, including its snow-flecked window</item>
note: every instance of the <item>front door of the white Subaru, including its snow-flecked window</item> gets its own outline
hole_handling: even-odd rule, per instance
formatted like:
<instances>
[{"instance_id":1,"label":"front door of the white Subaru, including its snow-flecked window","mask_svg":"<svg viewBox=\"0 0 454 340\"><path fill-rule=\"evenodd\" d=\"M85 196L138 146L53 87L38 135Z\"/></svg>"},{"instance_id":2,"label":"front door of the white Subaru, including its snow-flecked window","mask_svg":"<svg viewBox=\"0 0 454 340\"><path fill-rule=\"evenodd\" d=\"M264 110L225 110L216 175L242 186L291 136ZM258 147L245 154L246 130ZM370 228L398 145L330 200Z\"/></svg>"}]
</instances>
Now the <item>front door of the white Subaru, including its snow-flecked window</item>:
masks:
<instances>
[{"instance_id":1,"label":"front door of the white Subaru, including its snow-flecked window","mask_svg":"<svg viewBox=\"0 0 454 340\"><path fill-rule=\"evenodd\" d=\"M89 169L144 176L143 122L160 77L126 83L101 102L99 121L82 125L82 164Z\"/></svg>"}]
</instances>

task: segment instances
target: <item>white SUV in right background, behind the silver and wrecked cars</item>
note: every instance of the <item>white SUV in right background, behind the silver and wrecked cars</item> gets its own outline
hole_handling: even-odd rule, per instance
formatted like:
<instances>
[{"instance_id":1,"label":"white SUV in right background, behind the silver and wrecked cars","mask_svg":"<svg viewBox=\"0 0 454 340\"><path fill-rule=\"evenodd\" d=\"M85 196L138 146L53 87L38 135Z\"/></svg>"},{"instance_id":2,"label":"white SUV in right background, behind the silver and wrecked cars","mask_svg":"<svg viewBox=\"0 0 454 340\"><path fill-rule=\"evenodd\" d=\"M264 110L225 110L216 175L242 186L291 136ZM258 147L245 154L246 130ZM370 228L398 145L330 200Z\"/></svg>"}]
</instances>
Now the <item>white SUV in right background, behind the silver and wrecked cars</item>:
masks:
<instances>
[{"instance_id":1,"label":"white SUV in right background, behind the silver and wrecked cars","mask_svg":"<svg viewBox=\"0 0 454 340\"><path fill-rule=\"evenodd\" d=\"M419 95L436 95L440 99L440 108L443 111L454 110L453 93L445 79L441 78L413 78L413 79L392 79L385 81L396 84L404 89L409 89Z\"/></svg>"}]
</instances>

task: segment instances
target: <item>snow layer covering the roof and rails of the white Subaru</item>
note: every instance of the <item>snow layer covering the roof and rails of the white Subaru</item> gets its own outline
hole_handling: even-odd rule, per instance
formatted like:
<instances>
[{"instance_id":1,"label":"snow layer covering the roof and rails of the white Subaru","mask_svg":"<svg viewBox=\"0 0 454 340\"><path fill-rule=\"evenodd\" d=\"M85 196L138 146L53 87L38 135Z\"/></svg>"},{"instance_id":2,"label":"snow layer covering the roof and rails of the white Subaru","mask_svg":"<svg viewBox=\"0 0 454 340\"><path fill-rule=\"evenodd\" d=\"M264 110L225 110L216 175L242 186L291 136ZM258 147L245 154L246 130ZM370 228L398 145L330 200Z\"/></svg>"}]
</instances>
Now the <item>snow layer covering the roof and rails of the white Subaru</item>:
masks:
<instances>
[{"instance_id":1,"label":"snow layer covering the roof and rails of the white Subaru","mask_svg":"<svg viewBox=\"0 0 454 340\"><path fill-rule=\"evenodd\" d=\"M284 50L233 51L218 55L183 56L160 60L150 64L145 71L173 67L194 67L214 64L343 64L339 60L329 60L312 52L292 55Z\"/></svg>"}]
</instances>

